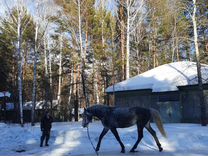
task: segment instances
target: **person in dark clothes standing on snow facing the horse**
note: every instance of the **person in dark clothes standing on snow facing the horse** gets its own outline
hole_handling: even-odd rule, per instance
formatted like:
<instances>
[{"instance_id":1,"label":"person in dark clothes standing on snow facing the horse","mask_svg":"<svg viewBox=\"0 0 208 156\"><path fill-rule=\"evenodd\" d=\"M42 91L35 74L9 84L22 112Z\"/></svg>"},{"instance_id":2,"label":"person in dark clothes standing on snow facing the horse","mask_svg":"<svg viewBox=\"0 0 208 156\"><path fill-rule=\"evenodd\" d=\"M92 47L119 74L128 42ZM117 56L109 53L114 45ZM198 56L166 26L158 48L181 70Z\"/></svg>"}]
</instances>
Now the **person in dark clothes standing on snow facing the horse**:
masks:
<instances>
[{"instance_id":1,"label":"person in dark clothes standing on snow facing the horse","mask_svg":"<svg viewBox=\"0 0 208 156\"><path fill-rule=\"evenodd\" d=\"M45 112L45 115L41 119L40 129L42 131L42 136L40 138L40 147L43 147L43 142L45 140L45 146L48 145L48 140L50 138L50 131L52 127L53 118L51 117L48 111Z\"/></svg>"}]
</instances>

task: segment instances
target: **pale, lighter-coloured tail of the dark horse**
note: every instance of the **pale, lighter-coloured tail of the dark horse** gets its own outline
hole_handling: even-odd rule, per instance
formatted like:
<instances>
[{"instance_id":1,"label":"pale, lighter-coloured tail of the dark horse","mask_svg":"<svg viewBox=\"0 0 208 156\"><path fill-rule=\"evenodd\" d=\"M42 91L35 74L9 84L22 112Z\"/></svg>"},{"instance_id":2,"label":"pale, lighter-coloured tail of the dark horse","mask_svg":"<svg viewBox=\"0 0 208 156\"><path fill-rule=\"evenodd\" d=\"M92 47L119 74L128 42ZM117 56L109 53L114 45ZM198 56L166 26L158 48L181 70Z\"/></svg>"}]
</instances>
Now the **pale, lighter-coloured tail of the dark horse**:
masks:
<instances>
[{"instance_id":1,"label":"pale, lighter-coloured tail of the dark horse","mask_svg":"<svg viewBox=\"0 0 208 156\"><path fill-rule=\"evenodd\" d=\"M155 121L155 123L156 123L156 125L157 125L157 127L158 127L158 129L160 131L160 133L164 137L167 137L165 129L163 127L162 119L160 117L159 112L157 110L155 110L155 109L152 109L152 108L150 109L150 112L151 112L151 115L152 115L152 117L153 117L153 119L154 119L154 121Z\"/></svg>"}]
</instances>

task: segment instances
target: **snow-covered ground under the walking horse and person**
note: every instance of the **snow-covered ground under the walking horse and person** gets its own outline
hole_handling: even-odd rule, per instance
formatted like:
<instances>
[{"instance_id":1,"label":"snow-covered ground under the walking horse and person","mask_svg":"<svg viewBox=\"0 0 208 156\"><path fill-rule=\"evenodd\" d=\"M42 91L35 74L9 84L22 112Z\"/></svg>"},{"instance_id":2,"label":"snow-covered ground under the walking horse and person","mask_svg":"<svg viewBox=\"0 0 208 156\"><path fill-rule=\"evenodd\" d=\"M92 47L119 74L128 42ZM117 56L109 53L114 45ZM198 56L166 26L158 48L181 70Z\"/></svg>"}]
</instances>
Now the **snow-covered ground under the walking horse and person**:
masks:
<instances>
[{"instance_id":1,"label":"snow-covered ground under the walking horse and person","mask_svg":"<svg viewBox=\"0 0 208 156\"><path fill-rule=\"evenodd\" d=\"M168 138L163 138L158 132L159 140L164 148L159 152L157 146L145 130L144 138L138 146L137 153L129 153L134 145L137 132L136 126L118 129L120 137L126 146L126 153L120 153L120 146L111 132L103 138L99 156L140 155L140 156L207 156L208 127L198 124L165 124ZM102 130L100 122L89 126L90 136L94 145ZM81 123L53 123L49 147L39 147L40 127L26 124L23 128L14 124L0 123L0 155L2 156L93 156L96 155L87 137L87 129ZM19 151L19 152L17 152Z\"/></svg>"}]
</instances>

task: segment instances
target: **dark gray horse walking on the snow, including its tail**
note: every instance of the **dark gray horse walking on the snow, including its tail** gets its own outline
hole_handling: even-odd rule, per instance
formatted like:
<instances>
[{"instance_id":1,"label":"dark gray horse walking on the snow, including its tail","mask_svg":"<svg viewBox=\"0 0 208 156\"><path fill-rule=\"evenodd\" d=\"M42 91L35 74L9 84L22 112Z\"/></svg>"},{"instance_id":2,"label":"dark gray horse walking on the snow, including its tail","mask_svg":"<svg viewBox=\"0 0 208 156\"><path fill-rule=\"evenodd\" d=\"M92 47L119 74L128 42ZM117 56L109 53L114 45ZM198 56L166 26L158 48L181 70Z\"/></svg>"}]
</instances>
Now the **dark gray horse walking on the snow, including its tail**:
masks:
<instances>
[{"instance_id":1,"label":"dark gray horse walking on the snow, including its tail","mask_svg":"<svg viewBox=\"0 0 208 156\"><path fill-rule=\"evenodd\" d=\"M93 105L84 110L83 122L82 126L87 127L90 122L92 122L92 117L95 116L101 120L104 128L100 134L99 141L96 147L96 151L99 151L101 140L104 135L111 130L111 132L116 137L117 141L121 146L121 152L125 153L124 144L121 142L120 137L116 128L125 128L133 125L137 125L138 139L130 152L136 152L139 142L143 138L143 129L144 127L150 132L150 134L154 137L155 142L161 152L163 148L156 136L156 132L150 126L150 119L153 117L154 121L161 134L166 137L165 130L163 128L163 124L160 118L160 115L155 109L145 109L141 107L128 107L128 108L120 108L120 107L109 107L105 105Z\"/></svg>"}]
</instances>

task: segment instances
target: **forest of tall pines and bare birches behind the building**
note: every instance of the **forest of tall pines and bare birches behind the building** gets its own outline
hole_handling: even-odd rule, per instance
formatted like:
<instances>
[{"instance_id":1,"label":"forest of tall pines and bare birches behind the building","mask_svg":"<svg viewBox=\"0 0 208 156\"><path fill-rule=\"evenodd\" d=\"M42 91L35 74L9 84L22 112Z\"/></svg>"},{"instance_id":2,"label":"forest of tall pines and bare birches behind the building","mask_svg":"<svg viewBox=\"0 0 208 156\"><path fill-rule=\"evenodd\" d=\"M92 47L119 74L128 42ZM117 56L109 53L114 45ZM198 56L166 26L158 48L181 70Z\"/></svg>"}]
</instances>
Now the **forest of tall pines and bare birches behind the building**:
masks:
<instances>
[{"instance_id":1,"label":"forest of tall pines and bare birches behind the building","mask_svg":"<svg viewBox=\"0 0 208 156\"><path fill-rule=\"evenodd\" d=\"M61 121L105 89L170 62L208 63L208 0L1 0L0 91ZM196 48L197 45L197 48ZM198 56L197 56L198 55ZM76 119L78 120L78 119Z\"/></svg>"}]
</instances>

